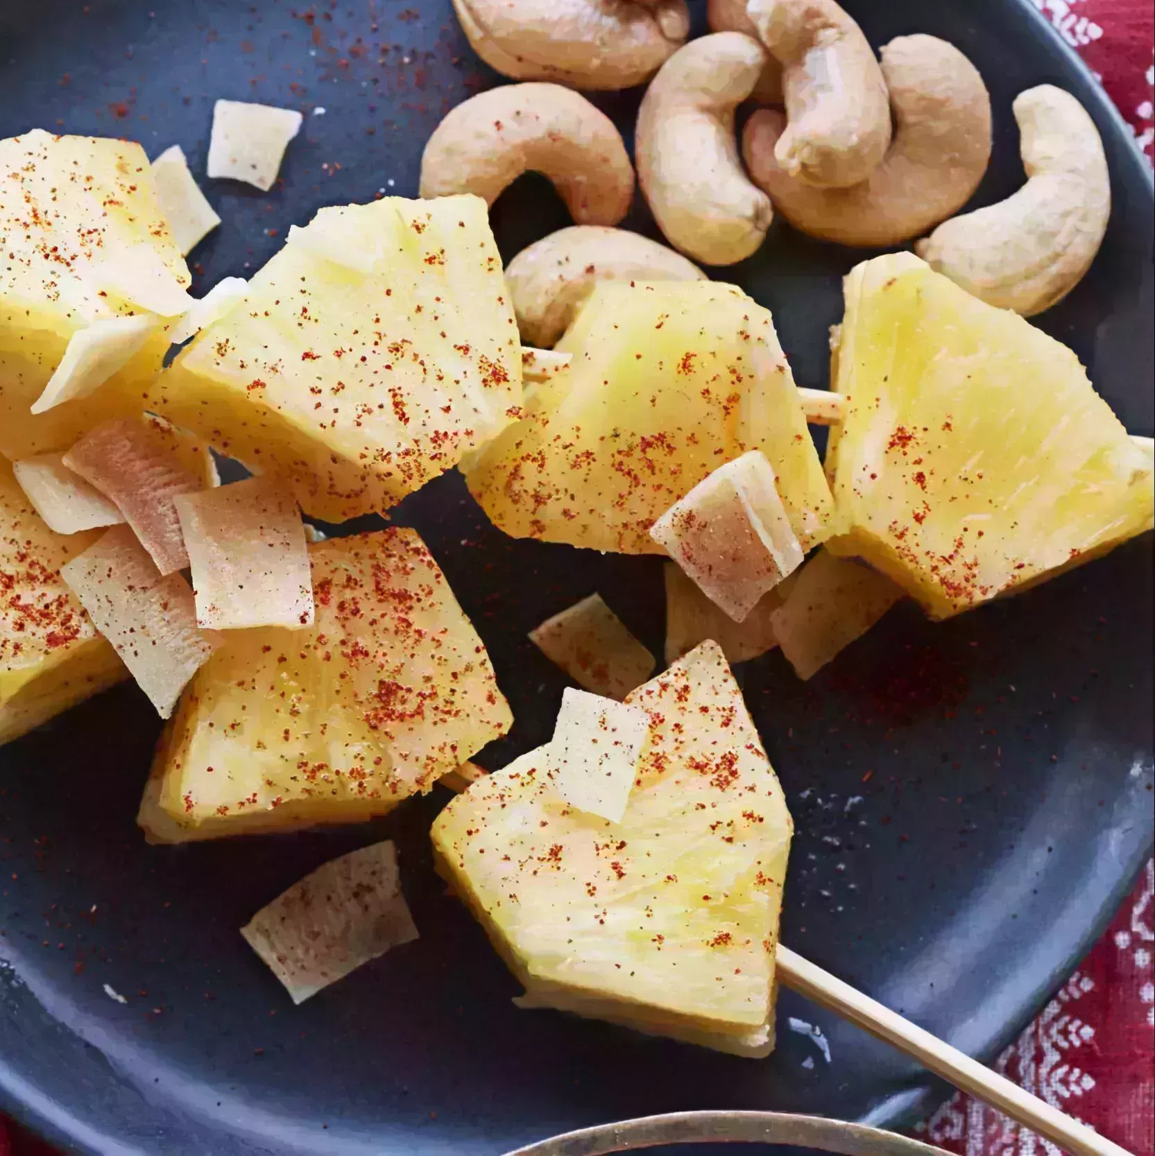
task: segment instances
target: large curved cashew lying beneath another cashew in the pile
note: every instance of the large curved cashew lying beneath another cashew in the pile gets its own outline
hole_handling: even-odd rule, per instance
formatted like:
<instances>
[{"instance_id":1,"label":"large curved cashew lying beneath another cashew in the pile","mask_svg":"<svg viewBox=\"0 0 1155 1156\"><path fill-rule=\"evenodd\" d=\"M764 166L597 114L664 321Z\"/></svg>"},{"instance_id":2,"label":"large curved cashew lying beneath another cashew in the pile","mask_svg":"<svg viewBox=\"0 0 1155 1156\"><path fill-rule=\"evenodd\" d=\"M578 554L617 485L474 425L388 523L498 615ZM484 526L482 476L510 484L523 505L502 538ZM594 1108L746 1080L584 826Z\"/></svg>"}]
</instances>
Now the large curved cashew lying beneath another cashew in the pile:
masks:
<instances>
[{"instance_id":1,"label":"large curved cashew lying beneath another cashew in the pile","mask_svg":"<svg viewBox=\"0 0 1155 1156\"><path fill-rule=\"evenodd\" d=\"M780 113L754 113L742 156L795 229L844 245L896 245L970 200L991 157L991 98L978 69L934 36L899 36L881 52L895 135L883 162L850 188L815 188L784 172Z\"/></svg>"}]
</instances>

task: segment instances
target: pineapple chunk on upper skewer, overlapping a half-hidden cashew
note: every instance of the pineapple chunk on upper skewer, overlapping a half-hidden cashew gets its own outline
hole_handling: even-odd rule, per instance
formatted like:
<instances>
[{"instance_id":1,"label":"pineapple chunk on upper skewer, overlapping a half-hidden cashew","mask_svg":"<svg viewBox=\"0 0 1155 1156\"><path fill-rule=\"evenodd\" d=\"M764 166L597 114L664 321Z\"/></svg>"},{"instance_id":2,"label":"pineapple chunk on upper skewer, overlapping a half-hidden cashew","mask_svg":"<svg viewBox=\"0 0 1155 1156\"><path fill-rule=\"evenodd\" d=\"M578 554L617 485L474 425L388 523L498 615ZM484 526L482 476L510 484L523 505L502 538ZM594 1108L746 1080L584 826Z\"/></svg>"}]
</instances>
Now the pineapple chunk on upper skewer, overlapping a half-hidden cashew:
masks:
<instances>
[{"instance_id":1,"label":"pineapple chunk on upper skewer, overlapping a half-hidden cashew","mask_svg":"<svg viewBox=\"0 0 1155 1156\"><path fill-rule=\"evenodd\" d=\"M514 538L660 554L650 527L719 464L761 450L804 549L835 504L770 312L715 281L604 283L466 480Z\"/></svg>"}]
</instances>

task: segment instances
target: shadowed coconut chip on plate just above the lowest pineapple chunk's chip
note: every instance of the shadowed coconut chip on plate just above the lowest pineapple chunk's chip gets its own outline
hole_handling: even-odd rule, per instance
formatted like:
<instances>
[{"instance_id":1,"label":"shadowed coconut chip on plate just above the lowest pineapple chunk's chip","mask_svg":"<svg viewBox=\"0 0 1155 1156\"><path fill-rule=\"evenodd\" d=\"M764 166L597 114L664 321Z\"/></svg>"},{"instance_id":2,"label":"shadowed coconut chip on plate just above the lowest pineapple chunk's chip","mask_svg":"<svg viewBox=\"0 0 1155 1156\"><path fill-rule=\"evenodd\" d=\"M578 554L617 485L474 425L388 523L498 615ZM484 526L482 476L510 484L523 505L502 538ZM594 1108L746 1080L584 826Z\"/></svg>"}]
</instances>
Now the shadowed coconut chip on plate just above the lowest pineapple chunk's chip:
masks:
<instances>
[{"instance_id":1,"label":"shadowed coconut chip on plate just above the lowest pineapple chunk's chip","mask_svg":"<svg viewBox=\"0 0 1155 1156\"><path fill-rule=\"evenodd\" d=\"M578 686L607 698L624 698L657 666L600 594L547 618L530 640Z\"/></svg>"}]
</instances>

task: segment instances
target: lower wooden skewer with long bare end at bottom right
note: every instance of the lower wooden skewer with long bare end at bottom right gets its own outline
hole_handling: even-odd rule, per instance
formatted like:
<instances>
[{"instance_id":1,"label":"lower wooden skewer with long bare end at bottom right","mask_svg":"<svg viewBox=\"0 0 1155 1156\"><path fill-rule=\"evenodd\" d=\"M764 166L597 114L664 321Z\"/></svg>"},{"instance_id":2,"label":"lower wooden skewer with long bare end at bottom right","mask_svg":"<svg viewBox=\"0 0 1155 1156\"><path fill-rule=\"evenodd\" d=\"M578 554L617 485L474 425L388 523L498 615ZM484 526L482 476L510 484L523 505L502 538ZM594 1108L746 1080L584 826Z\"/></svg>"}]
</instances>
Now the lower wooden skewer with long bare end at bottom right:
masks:
<instances>
[{"instance_id":1,"label":"lower wooden skewer with long bare end at bottom right","mask_svg":"<svg viewBox=\"0 0 1155 1156\"><path fill-rule=\"evenodd\" d=\"M486 773L475 763L462 763L456 771L443 775L438 781L460 794ZM918 1060L924 1068L942 1076L956 1088L997 1107L1016 1124L1032 1128L1072 1156L1131 1156L1125 1148L1101 1136L1086 1124L1080 1124L1024 1091L1006 1076L984 1067L978 1060L972 1060L957 1047L952 1047L918 1024L904 1020L878 1000L872 1000L869 995L804 959L782 943L775 950L775 963L776 975L786 987L836 1011L872 1036Z\"/></svg>"}]
</instances>

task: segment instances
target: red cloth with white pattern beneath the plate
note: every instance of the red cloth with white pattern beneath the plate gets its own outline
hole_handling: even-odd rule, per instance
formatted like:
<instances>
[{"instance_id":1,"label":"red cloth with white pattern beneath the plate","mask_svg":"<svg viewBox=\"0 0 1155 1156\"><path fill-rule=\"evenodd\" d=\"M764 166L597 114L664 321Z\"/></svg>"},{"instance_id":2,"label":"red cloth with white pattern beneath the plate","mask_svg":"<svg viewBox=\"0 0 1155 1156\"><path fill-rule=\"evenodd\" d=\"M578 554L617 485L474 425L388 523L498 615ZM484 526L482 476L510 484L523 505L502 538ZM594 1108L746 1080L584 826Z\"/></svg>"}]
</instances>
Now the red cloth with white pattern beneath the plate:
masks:
<instances>
[{"instance_id":1,"label":"red cloth with white pattern beneath the plate","mask_svg":"<svg viewBox=\"0 0 1155 1156\"><path fill-rule=\"evenodd\" d=\"M1155 12L1150 0L1034 0L1103 82L1150 158ZM1155 872L998 1068L1137 1156L1155 1154ZM919 1135L962 1156L1057 1156L1058 1149L968 1096ZM51 1156L0 1120L0 1156Z\"/></svg>"}]
</instances>

